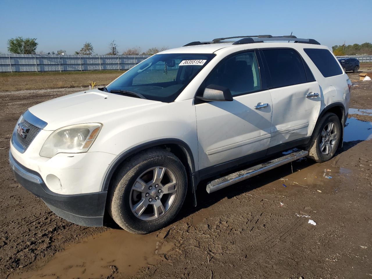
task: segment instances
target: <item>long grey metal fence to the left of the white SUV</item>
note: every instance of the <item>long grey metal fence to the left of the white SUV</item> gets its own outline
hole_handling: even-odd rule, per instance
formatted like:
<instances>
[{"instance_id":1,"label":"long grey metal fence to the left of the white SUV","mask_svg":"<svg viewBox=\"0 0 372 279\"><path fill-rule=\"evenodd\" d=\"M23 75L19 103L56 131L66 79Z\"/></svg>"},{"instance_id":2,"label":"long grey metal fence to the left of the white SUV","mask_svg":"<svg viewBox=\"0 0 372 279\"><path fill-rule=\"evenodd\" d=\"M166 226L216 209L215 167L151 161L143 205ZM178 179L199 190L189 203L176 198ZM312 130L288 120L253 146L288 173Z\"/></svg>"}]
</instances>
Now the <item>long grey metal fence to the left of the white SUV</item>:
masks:
<instances>
[{"instance_id":1,"label":"long grey metal fence to the left of the white SUV","mask_svg":"<svg viewBox=\"0 0 372 279\"><path fill-rule=\"evenodd\" d=\"M149 55L0 54L0 72L128 70Z\"/></svg>"}]
</instances>

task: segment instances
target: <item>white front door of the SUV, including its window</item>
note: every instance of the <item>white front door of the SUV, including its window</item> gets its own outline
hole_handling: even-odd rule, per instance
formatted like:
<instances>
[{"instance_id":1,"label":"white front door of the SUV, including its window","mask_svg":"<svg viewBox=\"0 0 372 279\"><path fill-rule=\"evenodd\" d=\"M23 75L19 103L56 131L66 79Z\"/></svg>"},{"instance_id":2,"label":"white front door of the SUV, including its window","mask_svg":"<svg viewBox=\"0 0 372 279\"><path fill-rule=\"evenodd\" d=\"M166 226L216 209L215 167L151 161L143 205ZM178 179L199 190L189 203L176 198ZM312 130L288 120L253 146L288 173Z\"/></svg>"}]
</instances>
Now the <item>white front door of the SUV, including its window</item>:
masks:
<instances>
[{"instance_id":1,"label":"white front door of the SUV, including its window","mask_svg":"<svg viewBox=\"0 0 372 279\"><path fill-rule=\"evenodd\" d=\"M250 51L221 61L206 79L205 86L230 89L234 100L195 105L201 175L266 154L272 101L270 92L262 90L259 73L256 54Z\"/></svg>"}]
</instances>

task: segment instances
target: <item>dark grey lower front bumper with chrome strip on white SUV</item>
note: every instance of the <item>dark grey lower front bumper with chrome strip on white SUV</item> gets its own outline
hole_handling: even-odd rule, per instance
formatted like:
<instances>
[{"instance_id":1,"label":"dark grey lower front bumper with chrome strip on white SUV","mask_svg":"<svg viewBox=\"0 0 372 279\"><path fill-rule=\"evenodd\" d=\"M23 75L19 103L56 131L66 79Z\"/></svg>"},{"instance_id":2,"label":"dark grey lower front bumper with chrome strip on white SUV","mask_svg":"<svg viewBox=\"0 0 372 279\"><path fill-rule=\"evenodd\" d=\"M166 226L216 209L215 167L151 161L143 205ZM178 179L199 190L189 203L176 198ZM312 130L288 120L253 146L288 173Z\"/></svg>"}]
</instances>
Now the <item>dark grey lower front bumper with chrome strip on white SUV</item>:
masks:
<instances>
[{"instance_id":1,"label":"dark grey lower front bumper with chrome strip on white SUV","mask_svg":"<svg viewBox=\"0 0 372 279\"><path fill-rule=\"evenodd\" d=\"M17 182L41 198L59 217L78 225L103 225L107 191L62 195L48 189L40 174L18 163L9 152L9 164Z\"/></svg>"}]
</instances>

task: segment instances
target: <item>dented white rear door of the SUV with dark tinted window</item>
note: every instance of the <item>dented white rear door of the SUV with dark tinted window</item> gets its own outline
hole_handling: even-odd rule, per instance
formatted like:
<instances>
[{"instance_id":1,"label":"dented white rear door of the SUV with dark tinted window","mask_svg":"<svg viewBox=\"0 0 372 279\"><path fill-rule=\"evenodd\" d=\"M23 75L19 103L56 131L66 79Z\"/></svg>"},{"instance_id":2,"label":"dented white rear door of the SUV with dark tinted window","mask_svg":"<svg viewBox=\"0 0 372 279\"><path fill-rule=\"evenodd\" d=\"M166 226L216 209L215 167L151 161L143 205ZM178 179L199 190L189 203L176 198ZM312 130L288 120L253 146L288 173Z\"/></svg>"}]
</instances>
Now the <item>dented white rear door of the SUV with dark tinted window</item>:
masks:
<instances>
[{"instance_id":1,"label":"dented white rear door of the SUV with dark tinted window","mask_svg":"<svg viewBox=\"0 0 372 279\"><path fill-rule=\"evenodd\" d=\"M301 144L320 112L319 84L294 49L263 49L262 54L272 82L270 151Z\"/></svg>"}]
</instances>

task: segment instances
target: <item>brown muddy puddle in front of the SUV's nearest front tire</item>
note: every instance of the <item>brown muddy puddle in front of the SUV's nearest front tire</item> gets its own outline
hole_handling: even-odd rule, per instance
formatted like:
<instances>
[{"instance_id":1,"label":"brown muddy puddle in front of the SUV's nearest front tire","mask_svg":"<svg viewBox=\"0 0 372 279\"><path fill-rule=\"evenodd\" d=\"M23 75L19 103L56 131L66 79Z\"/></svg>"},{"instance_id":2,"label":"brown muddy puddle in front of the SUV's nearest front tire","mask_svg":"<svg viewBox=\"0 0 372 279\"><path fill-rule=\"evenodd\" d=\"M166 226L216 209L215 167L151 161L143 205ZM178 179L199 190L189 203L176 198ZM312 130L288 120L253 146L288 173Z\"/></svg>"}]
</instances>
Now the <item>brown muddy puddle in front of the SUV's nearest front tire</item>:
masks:
<instances>
[{"instance_id":1,"label":"brown muddy puddle in front of the SUV's nearest front tire","mask_svg":"<svg viewBox=\"0 0 372 279\"><path fill-rule=\"evenodd\" d=\"M157 232L138 235L106 231L66 247L48 262L36 262L29 272L9 278L127 278L172 254L173 241L158 240L156 236Z\"/></svg>"}]
</instances>

